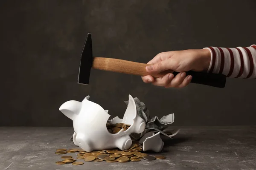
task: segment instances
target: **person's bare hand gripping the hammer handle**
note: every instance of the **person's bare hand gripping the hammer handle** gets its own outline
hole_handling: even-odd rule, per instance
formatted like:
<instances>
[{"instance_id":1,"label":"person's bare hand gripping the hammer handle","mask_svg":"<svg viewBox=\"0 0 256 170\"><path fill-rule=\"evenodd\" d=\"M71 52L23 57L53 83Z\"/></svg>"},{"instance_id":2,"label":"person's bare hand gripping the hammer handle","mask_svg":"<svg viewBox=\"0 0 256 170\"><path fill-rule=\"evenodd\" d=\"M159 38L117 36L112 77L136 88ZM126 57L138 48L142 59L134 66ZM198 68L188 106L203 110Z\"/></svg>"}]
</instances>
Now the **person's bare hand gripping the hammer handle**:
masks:
<instances>
[{"instance_id":1,"label":"person's bare hand gripping the hammer handle","mask_svg":"<svg viewBox=\"0 0 256 170\"><path fill-rule=\"evenodd\" d=\"M151 75L142 77L143 82L165 88L182 88L188 85L191 75L186 75L185 71L207 71L211 61L211 53L208 49L168 51L156 55L146 67L149 74L158 74L165 70L180 72L175 77L168 73L163 77L155 78Z\"/></svg>"}]
</instances>

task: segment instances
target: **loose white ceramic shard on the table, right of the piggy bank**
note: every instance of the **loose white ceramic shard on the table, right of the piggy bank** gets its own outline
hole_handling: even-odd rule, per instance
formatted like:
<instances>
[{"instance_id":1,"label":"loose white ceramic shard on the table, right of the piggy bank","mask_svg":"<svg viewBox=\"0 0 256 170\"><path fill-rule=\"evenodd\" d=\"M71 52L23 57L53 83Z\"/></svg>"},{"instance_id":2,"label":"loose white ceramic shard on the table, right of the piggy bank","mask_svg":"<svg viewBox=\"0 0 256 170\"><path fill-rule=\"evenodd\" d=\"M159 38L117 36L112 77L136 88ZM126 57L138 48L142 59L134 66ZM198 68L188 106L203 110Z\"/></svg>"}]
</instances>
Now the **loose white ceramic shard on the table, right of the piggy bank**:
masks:
<instances>
[{"instance_id":1,"label":"loose white ceramic shard on the table, right of the piggy bank","mask_svg":"<svg viewBox=\"0 0 256 170\"><path fill-rule=\"evenodd\" d=\"M163 149L163 140L160 138L160 132L153 136L147 137L143 142L143 151L152 150L160 152Z\"/></svg>"}]
</instances>

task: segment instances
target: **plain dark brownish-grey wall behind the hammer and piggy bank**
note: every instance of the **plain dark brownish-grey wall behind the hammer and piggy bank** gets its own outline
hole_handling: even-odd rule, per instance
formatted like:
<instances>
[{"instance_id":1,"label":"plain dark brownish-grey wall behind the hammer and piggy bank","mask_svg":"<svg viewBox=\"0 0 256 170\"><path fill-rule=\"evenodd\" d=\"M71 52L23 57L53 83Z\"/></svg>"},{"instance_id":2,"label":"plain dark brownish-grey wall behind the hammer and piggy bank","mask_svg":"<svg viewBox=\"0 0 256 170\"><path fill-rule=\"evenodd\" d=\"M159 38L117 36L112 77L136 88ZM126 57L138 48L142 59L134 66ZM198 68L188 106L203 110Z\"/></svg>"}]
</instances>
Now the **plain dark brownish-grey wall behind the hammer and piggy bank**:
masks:
<instances>
[{"instance_id":1,"label":"plain dark brownish-grey wall behind the hammer and piggy bank","mask_svg":"<svg viewBox=\"0 0 256 170\"><path fill-rule=\"evenodd\" d=\"M92 70L76 84L84 40L94 56L148 62L163 51L256 43L255 0L5 0L0 6L1 126L72 126L58 108L91 100L122 117L128 94L173 125L255 125L256 80L165 89Z\"/></svg>"}]
</instances>

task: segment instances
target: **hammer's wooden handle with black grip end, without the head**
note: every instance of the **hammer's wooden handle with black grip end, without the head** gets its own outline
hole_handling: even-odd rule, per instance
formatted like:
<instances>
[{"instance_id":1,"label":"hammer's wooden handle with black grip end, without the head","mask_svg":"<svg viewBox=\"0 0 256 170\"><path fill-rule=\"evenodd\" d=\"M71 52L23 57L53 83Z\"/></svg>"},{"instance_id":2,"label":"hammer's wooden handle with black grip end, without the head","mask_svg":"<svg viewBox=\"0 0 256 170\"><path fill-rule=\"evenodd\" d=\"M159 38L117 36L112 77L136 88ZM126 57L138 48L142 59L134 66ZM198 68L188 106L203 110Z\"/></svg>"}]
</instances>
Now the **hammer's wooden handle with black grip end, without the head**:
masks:
<instances>
[{"instance_id":1,"label":"hammer's wooden handle with black grip end, without the head","mask_svg":"<svg viewBox=\"0 0 256 170\"><path fill-rule=\"evenodd\" d=\"M166 70L159 74L149 74L145 67L149 64L126 61L122 59L113 59L105 57L93 57L92 68L104 71L112 71L117 73L124 74L133 74L138 76L151 75L154 78L163 77L167 73L172 73L175 76L178 72L173 72L172 70ZM195 71L186 71L186 75L192 76L192 83L209 85L218 88L224 88L226 84L226 76L223 74L212 74L206 72L195 72Z\"/></svg>"}]
</instances>

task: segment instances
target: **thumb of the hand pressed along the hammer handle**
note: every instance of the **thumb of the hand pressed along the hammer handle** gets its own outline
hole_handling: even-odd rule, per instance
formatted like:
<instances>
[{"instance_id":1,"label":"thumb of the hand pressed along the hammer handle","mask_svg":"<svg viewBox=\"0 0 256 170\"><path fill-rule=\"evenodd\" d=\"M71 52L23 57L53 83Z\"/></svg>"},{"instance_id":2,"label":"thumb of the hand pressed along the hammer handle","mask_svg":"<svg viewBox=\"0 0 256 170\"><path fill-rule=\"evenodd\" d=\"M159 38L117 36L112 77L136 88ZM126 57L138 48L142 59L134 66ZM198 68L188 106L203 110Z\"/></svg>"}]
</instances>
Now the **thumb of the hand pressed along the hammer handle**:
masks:
<instances>
[{"instance_id":1,"label":"thumb of the hand pressed along the hammer handle","mask_svg":"<svg viewBox=\"0 0 256 170\"><path fill-rule=\"evenodd\" d=\"M147 66L146 71L151 74L158 74L165 70L172 70L173 66L173 62L170 59L166 59L161 62L157 62L154 65Z\"/></svg>"}]
</instances>

